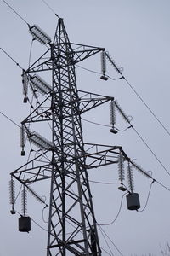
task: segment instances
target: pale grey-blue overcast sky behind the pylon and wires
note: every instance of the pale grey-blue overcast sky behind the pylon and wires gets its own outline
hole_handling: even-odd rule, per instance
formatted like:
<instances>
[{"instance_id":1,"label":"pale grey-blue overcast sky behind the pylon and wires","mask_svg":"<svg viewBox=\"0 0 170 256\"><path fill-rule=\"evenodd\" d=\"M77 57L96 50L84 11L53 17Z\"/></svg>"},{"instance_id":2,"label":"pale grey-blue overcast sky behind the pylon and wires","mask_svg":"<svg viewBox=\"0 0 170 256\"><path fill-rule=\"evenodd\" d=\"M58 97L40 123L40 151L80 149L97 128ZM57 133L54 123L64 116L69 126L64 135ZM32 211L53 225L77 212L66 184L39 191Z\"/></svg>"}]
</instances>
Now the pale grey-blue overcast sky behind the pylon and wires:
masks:
<instances>
[{"instance_id":1,"label":"pale grey-blue overcast sky behind the pylon and wires","mask_svg":"<svg viewBox=\"0 0 170 256\"><path fill-rule=\"evenodd\" d=\"M57 19L54 13L42 0L8 0L30 24L37 24L54 37ZM158 119L170 131L169 120L169 67L170 67L170 3L167 0L48 0L48 4L64 18L65 27L71 42L105 47L119 67L123 67L123 75L133 84L139 96L144 99ZM21 67L27 68L31 46L31 34L20 18L0 1L0 47L5 49ZM46 48L38 42L33 44L31 62L36 61ZM80 63L82 67L100 72L100 55ZM16 67L3 52L0 53L0 111L20 124L29 113L23 104L21 70ZM119 78L116 71L109 66L108 75ZM145 142L170 172L169 143L170 137L161 125L153 118L144 104L139 100L128 84L119 79L107 82L100 80L99 75L77 67L77 87L107 96L114 96L127 115L133 117L132 124ZM84 114L88 119L104 125L110 125L109 105L96 108ZM0 256L46 255L47 232L32 223L30 234L18 231L18 215L10 214L8 200L9 173L26 162L20 156L20 131L13 123L0 115ZM135 159L146 171L152 171L153 177L170 188L170 177L156 160L141 139L128 129L113 135L109 128L82 122L84 140L88 143L120 145L127 155ZM127 124L117 117L116 127L123 130ZM117 182L116 166L99 170L91 170L89 177L94 181ZM135 192L139 193L141 209L145 205L151 180L134 170ZM20 189L17 186L16 192ZM36 189L36 186L34 187ZM117 185L91 183L94 195L94 211L99 224L110 223L119 210L122 191ZM42 191L45 193L48 188ZM48 195L46 195L48 197ZM48 225L42 220L42 205L29 197L28 214L44 229ZM20 201L17 204L20 212ZM153 253L159 256L160 246L165 247L170 241L169 229L170 192L154 183L150 199L144 212L127 210L126 199L122 202L122 210L115 224L105 226L104 230L114 241L124 256L145 255ZM48 212L44 212L48 218ZM101 247L110 253L105 240L99 233ZM108 239L107 239L108 240ZM108 241L112 255L121 255L116 247ZM103 253L103 256L109 255Z\"/></svg>"}]
</instances>

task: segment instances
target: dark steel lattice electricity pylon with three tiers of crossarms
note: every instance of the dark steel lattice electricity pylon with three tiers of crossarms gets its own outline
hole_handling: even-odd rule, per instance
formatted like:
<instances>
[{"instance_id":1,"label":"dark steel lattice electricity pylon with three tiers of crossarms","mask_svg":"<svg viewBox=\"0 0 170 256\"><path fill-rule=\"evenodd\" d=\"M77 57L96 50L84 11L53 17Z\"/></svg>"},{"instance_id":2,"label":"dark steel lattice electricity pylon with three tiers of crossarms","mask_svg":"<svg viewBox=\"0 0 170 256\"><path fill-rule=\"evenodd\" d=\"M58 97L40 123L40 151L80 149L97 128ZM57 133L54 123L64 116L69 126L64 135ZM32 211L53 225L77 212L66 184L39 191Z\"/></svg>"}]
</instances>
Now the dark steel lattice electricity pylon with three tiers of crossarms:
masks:
<instances>
[{"instance_id":1,"label":"dark steel lattice electricity pylon with three tiers of crossarms","mask_svg":"<svg viewBox=\"0 0 170 256\"><path fill-rule=\"evenodd\" d=\"M58 20L54 42L47 51L23 73L25 100L27 84L37 99L36 108L21 123L24 136L41 148L33 159L11 173L24 187L50 180L47 255L100 256L97 223L88 169L117 164L117 156L127 155L119 146L84 143L81 115L113 97L77 89L75 65L103 48L69 41L64 22ZM33 75L32 75L33 73ZM52 74L52 86L37 75ZM40 102L37 91L45 96ZM31 106L32 107L32 106ZM33 107L32 107L33 108ZM51 140L31 131L31 125L49 124ZM24 154L24 149L22 150Z\"/></svg>"}]
</instances>

